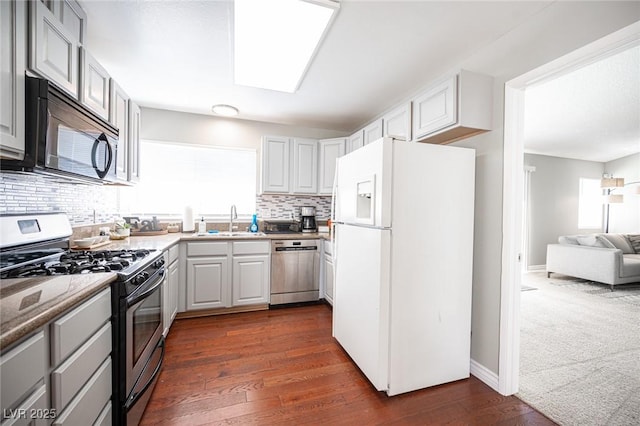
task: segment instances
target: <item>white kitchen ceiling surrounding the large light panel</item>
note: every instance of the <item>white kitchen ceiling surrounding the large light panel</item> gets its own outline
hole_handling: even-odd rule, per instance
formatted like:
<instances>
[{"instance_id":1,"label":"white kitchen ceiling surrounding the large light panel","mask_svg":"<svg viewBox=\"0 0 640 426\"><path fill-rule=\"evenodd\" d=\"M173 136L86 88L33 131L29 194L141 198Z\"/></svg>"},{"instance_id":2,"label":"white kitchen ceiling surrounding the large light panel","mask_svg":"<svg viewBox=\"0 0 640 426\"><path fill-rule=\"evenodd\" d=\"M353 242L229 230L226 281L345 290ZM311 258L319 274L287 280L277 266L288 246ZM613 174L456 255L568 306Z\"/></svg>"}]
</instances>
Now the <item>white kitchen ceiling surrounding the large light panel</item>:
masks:
<instances>
[{"instance_id":1,"label":"white kitchen ceiling surrounding the large light panel","mask_svg":"<svg viewBox=\"0 0 640 426\"><path fill-rule=\"evenodd\" d=\"M554 3L341 0L300 89L288 94L233 84L231 0L80 1L87 48L141 106L212 115L211 106L224 103L242 119L345 134ZM588 128L568 120L544 126ZM540 150L553 146L543 135L535 140Z\"/></svg>"}]
</instances>

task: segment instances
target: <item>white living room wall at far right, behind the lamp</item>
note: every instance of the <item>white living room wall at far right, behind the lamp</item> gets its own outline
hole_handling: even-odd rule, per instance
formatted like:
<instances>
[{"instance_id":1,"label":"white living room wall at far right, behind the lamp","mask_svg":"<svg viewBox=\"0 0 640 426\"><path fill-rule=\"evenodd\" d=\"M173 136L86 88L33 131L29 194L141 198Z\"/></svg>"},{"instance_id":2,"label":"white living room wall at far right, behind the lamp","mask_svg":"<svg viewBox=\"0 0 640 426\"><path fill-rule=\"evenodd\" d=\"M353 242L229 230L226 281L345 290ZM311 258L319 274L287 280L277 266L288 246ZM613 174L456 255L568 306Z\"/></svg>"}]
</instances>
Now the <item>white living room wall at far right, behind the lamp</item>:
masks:
<instances>
[{"instance_id":1,"label":"white living room wall at far right, behind the lamp","mask_svg":"<svg viewBox=\"0 0 640 426\"><path fill-rule=\"evenodd\" d=\"M605 164L604 172L624 178L625 181L623 188L614 191L615 194L624 195L624 203L609 205L609 232L640 233L640 194L635 192L640 186L640 154L610 161Z\"/></svg>"}]
</instances>

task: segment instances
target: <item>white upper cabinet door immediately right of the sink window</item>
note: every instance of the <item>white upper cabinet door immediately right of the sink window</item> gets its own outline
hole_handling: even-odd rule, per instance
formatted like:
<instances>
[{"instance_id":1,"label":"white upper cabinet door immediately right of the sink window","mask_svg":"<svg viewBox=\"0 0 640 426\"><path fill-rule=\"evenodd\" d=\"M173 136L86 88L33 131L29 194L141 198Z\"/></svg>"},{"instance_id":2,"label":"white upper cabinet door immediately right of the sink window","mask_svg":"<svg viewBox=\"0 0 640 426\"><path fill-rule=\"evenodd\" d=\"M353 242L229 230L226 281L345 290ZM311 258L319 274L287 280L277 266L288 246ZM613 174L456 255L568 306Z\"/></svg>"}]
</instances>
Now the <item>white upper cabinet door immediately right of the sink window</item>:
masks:
<instances>
[{"instance_id":1,"label":"white upper cabinet door immediately right of the sink window","mask_svg":"<svg viewBox=\"0 0 640 426\"><path fill-rule=\"evenodd\" d=\"M288 193L289 138L267 136L262 141L262 191Z\"/></svg>"}]
</instances>

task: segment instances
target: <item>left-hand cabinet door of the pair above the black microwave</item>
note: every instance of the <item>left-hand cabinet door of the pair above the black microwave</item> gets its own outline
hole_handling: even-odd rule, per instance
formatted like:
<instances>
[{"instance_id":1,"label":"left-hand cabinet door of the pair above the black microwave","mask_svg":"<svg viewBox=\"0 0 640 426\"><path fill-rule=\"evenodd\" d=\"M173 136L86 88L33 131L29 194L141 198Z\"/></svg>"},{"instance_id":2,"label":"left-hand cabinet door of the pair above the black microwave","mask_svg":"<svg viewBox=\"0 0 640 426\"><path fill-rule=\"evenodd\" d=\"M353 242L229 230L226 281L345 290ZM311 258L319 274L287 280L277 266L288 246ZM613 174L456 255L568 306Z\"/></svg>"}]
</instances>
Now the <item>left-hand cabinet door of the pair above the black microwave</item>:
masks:
<instances>
[{"instance_id":1,"label":"left-hand cabinet door of the pair above the black microwave","mask_svg":"<svg viewBox=\"0 0 640 426\"><path fill-rule=\"evenodd\" d=\"M78 40L42 2L29 6L29 66L78 99Z\"/></svg>"}]
</instances>

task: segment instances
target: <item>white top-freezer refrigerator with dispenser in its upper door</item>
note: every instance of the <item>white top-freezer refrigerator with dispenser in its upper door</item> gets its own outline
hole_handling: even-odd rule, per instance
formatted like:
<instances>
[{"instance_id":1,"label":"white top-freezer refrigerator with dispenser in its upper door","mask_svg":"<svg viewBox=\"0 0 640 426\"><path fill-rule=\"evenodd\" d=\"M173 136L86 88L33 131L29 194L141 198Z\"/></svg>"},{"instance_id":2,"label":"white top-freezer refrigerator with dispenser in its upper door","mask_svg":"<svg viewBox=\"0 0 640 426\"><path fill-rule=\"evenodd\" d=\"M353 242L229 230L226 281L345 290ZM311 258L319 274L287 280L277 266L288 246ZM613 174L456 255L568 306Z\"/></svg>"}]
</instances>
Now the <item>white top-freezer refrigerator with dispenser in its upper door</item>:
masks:
<instances>
[{"instance_id":1,"label":"white top-freezer refrigerator with dispenser in its upper door","mask_svg":"<svg viewBox=\"0 0 640 426\"><path fill-rule=\"evenodd\" d=\"M390 138L338 159L333 336L389 396L469 377L474 170Z\"/></svg>"}]
</instances>

